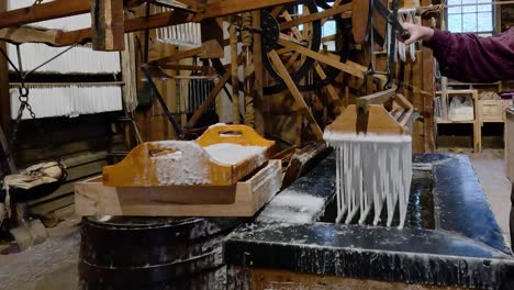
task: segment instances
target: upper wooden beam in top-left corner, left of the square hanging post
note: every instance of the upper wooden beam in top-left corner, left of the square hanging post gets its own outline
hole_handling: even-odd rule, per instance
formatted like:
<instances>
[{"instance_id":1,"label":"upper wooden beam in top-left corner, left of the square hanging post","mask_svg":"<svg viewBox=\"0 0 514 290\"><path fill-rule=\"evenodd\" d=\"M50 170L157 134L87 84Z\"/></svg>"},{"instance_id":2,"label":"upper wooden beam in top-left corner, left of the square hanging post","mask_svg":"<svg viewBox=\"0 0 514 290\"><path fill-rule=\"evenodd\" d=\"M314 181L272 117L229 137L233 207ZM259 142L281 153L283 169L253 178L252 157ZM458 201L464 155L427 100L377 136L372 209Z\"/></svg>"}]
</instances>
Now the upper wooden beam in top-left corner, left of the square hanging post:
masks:
<instances>
[{"instance_id":1,"label":"upper wooden beam in top-left corner, left of the square hanging post","mask_svg":"<svg viewBox=\"0 0 514 290\"><path fill-rule=\"evenodd\" d=\"M88 13L89 0L55 0L0 14L0 29Z\"/></svg>"}]
</instances>

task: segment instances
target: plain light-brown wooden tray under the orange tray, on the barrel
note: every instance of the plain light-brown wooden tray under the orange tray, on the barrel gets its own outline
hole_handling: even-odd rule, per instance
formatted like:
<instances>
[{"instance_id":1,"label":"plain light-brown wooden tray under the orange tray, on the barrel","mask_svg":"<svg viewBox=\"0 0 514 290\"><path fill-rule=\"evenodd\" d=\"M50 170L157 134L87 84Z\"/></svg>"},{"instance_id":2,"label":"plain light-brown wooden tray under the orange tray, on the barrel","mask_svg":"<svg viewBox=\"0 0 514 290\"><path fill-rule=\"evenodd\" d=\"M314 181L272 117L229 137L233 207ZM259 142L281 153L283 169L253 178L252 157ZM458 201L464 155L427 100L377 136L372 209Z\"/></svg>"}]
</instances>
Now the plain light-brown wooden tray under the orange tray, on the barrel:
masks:
<instances>
[{"instance_id":1,"label":"plain light-brown wooden tray under the orange tray, on the barrel","mask_svg":"<svg viewBox=\"0 0 514 290\"><path fill-rule=\"evenodd\" d=\"M105 187L102 177L75 185L78 215L253 216L280 190L281 160L226 187Z\"/></svg>"}]
</instances>

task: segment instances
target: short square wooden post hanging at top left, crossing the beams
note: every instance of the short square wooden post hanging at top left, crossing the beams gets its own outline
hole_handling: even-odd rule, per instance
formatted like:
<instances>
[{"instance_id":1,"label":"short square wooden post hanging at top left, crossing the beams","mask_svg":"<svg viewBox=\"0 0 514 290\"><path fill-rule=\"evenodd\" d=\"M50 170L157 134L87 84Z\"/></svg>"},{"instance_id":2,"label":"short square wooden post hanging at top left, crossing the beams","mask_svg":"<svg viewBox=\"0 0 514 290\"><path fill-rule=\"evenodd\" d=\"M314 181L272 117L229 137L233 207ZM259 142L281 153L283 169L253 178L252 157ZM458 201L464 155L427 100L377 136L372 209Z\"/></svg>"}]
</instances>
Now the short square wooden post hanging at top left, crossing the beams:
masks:
<instances>
[{"instance_id":1,"label":"short square wooden post hanging at top left, crossing the beams","mask_svg":"<svg viewBox=\"0 0 514 290\"><path fill-rule=\"evenodd\" d=\"M94 51L123 51L123 0L90 0L92 47Z\"/></svg>"}]
</instances>

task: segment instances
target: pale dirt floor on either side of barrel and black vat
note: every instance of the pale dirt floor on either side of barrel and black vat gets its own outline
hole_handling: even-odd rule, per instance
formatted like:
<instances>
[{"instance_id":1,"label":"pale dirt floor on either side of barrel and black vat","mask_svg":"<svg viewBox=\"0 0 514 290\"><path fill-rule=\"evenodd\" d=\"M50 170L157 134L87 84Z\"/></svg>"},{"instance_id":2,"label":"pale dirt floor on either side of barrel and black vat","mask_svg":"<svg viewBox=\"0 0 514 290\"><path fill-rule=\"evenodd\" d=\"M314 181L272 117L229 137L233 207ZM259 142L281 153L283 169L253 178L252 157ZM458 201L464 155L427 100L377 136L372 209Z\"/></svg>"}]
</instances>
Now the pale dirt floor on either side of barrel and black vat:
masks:
<instances>
[{"instance_id":1,"label":"pale dirt floor on either side of barrel and black vat","mask_svg":"<svg viewBox=\"0 0 514 290\"><path fill-rule=\"evenodd\" d=\"M491 209L510 243L511 183L504 174L503 150L459 153L470 157ZM43 244L20 254L0 255L0 290L78 289L79 221L70 214L58 226L48 228L49 238Z\"/></svg>"}]
</instances>

